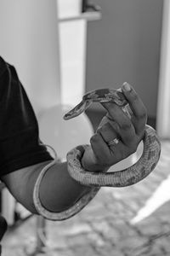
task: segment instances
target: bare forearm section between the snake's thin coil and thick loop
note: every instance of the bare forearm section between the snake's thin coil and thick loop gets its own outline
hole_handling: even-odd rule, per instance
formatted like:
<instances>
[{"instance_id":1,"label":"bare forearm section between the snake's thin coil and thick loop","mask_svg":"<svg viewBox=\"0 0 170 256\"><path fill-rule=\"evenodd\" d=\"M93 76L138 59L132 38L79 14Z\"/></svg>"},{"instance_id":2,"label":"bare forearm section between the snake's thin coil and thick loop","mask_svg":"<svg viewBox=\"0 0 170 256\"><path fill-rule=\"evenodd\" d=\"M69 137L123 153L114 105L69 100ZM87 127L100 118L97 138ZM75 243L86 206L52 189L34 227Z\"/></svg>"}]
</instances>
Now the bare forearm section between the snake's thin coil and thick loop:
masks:
<instances>
[{"instance_id":1,"label":"bare forearm section between the snake's thin coil and thick loop","mask_svg":"<svg viewBox=\"0 0 170 256\"><path fill-rule=\"evenodd\" d=\"M67 172L67 163L60 163L48 169L40 186L40 201L51 212L61 212L89 191L72 179Z\"/></svg>"}]
</instances>

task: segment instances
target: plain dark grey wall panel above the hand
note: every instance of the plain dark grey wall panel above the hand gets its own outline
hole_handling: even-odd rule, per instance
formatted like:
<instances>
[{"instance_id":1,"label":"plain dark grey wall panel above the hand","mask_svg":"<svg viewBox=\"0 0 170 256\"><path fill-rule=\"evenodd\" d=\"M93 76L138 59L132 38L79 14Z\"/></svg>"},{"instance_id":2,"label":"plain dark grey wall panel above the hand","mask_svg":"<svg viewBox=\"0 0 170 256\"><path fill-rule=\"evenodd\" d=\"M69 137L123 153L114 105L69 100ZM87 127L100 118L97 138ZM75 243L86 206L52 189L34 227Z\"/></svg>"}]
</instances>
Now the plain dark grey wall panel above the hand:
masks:
<instances>
[{"instance_id":1,"label":"plain dark grey wall panel above the hand","mask_svg":"<svg viewBox=\"0 0 170 256\"><path fill-rule=\"evenodd\" d=\"M127 81L156 117L162 0L99 0L102 20L88 23L86 89ZM99 108L96 105L94 108Z\"/></svg>"}]
</instances>

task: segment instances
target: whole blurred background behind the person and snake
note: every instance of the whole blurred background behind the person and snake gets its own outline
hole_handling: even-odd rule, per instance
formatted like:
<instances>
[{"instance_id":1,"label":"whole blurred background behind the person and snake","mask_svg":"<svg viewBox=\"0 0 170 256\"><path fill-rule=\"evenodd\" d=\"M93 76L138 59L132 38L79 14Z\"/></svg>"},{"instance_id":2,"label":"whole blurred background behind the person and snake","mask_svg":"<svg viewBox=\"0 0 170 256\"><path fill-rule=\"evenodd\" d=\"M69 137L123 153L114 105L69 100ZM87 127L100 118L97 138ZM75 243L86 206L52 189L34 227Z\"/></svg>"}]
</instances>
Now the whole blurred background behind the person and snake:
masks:
<instances>
[{"instance_id":1,"label":"whole blurred background behind the person and snake","mask_svg":"<svg viewBox=\"0 0 170 256\"><path fill-rule=\"evenodd\" d=\"M64 113L89 90L127 81L148 110L161 159L144 181L100 189L64 222L32 216L1 189L8 221L3 256L170 255L170 3L168 0L1 0L0 55L16 67L37 115L43 143L60 160L89 143L105 110L94 104L77 119ZM65 138L65 139L64 139ZM130 166L136 154L112 170Z\"/></svg>"}]
</instances>

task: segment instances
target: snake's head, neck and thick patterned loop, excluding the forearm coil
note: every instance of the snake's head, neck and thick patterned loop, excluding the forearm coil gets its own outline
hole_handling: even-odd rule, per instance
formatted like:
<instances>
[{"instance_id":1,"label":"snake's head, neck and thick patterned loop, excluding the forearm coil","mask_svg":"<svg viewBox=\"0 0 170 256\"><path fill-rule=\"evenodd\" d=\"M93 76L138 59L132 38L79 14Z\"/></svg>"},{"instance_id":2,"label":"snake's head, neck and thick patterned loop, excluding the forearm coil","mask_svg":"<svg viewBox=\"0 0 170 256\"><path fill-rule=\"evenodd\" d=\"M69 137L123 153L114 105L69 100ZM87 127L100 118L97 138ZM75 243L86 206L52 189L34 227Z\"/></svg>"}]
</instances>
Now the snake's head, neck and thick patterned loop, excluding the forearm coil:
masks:
<instances>
[{"instance_id":1,"label":"snake's head, neck and thick patterned loop, excluding the forearm coil","mask_svg":"<svg viewBox=\"0 0 170 256\"><path fill-rule=\"evenodd\" d=\"M120 90L100 89L88 92L82 97L75 108L65 114L64 119L71 119L85 111L93 102L115 102L118 106L125 108L127 113L127 100ZM127 113L128 114L128 113ZM86 172L80 167L77 167L77 159L79 148L73 148L67 154L68 171L77 182L88 186L109 186L109 187L124 187L134 183L138 183L156 167L156 163L160 158L161 143L158 140L156 131L145 125L144 131L144 150L140 159L133 166L119 172Z\"/></svg>"}]
</instances>

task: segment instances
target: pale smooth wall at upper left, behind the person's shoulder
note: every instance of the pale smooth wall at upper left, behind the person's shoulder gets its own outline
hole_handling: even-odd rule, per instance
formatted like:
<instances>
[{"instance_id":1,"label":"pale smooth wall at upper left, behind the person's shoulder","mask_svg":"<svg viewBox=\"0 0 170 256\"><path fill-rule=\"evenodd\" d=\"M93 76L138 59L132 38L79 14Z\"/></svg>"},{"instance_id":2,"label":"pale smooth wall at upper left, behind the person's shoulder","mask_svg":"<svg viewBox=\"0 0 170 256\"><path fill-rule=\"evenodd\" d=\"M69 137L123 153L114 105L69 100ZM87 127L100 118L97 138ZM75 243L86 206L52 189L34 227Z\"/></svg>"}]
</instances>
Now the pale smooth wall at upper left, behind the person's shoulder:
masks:
<instances>
[{"instance_id":1,"label":"pale smooth wall at upper left, behind the person's shoulder","mask_svg":"<svg viewBox=\"0 0 170 256\"><path fill-rule=\"evenodd\" d=\"M56 0L1 0L0 55L12 63L33 107L60 102Z\"/></svg>"}]
</instances>

